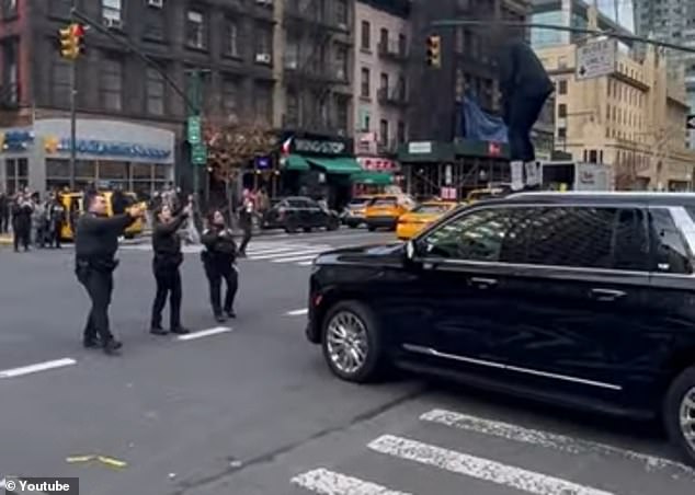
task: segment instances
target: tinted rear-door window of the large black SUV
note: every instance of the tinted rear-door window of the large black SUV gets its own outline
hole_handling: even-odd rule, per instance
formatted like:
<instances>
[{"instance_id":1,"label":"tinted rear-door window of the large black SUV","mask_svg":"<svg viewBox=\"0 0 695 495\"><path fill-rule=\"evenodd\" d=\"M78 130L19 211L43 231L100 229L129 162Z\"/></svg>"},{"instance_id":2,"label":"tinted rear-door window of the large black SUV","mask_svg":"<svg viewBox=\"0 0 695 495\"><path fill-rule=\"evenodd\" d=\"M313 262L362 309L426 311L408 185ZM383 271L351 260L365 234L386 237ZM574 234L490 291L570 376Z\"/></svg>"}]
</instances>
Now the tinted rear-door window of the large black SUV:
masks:
<instances>
[{"instance_id":1,"label":"tinted rear-door window of the large black SUV","mask_svg":"<svg viewBox=\"0 0 695 495\"><path fill-rule=\"evenodd\" d=\"M615 214L615 208L536 208L527 263L611 268Z\"/></svg>"}]
</instances>

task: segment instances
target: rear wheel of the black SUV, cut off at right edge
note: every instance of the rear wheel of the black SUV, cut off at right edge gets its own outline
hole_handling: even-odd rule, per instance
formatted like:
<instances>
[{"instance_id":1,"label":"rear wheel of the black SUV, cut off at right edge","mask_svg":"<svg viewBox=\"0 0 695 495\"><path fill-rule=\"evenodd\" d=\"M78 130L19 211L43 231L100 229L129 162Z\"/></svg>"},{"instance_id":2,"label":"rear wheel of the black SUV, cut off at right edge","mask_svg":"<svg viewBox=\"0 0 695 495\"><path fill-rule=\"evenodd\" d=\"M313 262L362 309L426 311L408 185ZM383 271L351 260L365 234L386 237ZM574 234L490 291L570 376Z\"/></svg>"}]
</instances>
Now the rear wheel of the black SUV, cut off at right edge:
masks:
<instances>
[{"instance_id":1,"label":"rear wheel of the black SUV, cut off at right edge","mask_svg":"<svg viewBox=\"0 0 695 495\"><path fill-rule=\"evenodd\" d=\"M664 400L663 419L671 441L695 465L695 366L671 383Z\"/></svg>"}]
</instances>

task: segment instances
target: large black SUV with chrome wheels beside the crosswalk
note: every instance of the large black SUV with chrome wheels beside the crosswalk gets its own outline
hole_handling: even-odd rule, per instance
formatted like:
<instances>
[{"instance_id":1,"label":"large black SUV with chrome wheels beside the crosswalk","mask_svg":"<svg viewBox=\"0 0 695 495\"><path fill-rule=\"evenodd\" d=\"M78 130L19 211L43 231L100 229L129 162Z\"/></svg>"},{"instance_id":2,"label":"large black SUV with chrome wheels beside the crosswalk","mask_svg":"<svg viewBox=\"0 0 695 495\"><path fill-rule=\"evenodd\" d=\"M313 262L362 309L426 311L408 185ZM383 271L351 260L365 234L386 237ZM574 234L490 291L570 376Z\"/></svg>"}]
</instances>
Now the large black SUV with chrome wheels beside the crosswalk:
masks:
<instances>
[{"instance_id":1,"label":"large black SUV with chrome wheels beside the crosswalk","mask_svg":"<svg viewBox=\"0 0 695 495\"><path fill-rule=\"evenodd\" d=\"M695 195L525 193L407 244L321 254L307 337L355 382L386 365L636 418L695 463Z\"/></svg>"}]
</instances>

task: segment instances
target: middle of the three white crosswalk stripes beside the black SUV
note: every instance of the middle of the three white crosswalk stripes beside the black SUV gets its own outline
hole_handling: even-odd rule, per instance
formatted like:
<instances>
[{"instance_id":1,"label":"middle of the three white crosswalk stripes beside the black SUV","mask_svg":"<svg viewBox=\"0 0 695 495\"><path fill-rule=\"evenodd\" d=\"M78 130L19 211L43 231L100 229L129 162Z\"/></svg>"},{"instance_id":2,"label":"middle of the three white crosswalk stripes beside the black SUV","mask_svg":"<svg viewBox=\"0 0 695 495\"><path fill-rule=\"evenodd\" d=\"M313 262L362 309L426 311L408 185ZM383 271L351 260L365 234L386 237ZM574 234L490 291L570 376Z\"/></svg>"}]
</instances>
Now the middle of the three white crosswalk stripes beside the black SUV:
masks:
<instances>
[{"instance_id":1,"label":"middle of the three white crosswalk stripes beside the black SUV","mask_svg":"<svg viewBox=\"0 0 695 495\"><path fill-rule=\"evenodd\" d=\"M572 495L613 495L609 492L580 485L559 477L392 435L384 435L372 441L368 447L376 452L431 465L464 476L488 481L534 495L558 495L563 493Z\"/></svg>"}]
</instances>

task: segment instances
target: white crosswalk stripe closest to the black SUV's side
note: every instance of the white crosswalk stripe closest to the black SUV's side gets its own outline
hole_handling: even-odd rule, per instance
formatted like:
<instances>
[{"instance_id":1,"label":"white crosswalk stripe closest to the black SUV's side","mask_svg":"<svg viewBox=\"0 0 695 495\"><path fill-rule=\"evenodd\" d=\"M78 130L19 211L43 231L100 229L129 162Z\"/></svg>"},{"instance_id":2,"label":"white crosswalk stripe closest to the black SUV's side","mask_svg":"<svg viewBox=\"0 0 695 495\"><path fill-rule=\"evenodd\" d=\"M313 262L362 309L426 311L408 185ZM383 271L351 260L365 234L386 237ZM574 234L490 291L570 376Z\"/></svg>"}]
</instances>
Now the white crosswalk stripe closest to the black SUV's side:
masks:
<instances>
[{"instance_id":1,"label":"white crosswalk stripe closest to the black SUV's side","mask_svg":"<svg viewBox=\"0 0 695 495\"><path fill-rule=\"evenodd\" d=\"M445 410L432 410L420 416L421 421L436 423L444 426L452 426L467 431L475 431L482 435L491 435L505 440L532 444L538 447L558 450L571 454L599 453L602 456L616 456L629 461L637 461L643 464L647 471L671 471L671 474L683 474L695 480L695 469L680 462L671 461L633 450L624 450L605 444L582 440L565 435L542 431L537 429L524 428L481 417L469 416Z\"/></svg>"}]
</instances>

